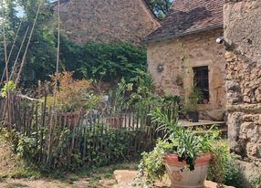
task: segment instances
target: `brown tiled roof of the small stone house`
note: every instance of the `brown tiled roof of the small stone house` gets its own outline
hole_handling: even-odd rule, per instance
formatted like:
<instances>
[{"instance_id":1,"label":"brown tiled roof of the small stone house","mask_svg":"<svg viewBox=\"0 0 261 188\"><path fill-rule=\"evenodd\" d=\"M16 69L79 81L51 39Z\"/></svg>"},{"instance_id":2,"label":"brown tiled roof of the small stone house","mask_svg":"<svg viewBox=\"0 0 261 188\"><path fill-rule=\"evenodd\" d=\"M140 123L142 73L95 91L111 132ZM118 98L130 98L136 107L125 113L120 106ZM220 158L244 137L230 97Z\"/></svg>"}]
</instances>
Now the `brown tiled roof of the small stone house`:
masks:
<instances>
[{"instance_id":1,"label":"brown tiled roof of the small stone house","mask_svg":"<svg viewBox=\"0 0 261 188\"><path fill-rule=\"evenodd\" d=\"M174 0L162 26L146 37L144 43L222 27L223 5L223 0Z\"/></svg>"}]
</instances>

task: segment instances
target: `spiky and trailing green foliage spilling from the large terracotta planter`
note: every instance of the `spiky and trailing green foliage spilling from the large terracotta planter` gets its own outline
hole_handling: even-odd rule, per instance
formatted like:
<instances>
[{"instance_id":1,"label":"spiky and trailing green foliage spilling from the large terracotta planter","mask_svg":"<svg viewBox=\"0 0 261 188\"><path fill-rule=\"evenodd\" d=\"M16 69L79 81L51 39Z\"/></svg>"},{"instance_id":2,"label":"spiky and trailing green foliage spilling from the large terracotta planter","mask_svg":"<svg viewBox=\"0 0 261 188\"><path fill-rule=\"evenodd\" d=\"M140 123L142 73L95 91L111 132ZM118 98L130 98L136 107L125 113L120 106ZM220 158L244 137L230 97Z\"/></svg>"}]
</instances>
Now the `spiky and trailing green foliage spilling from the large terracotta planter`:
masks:
<instances>
[{"instance_id":1,"label":"spiky and trailing green foliage spilling from the large terracotta planter","mask_svg":"<svg viewBox=\"0 0 261 188\"><path fill-rule=\"evenodd\" d=\"M193 171L197 157L212 152L214 143L219 138L219 132L214 131L214 128L202 136L196 135L193 131L179 125L177 119L170 119L159 109L151 112L151 120L158 124L157 130L165 132L165 136L163 141L158 141L153 151L142 155L140 176L146 174L147 184L162 179L162 175L165 173L164 157L166 154L177 154L179 160L186 162L187 168ZM219 169L214 172L214 174L221 173Z\"/></svg>"}]
</instances>

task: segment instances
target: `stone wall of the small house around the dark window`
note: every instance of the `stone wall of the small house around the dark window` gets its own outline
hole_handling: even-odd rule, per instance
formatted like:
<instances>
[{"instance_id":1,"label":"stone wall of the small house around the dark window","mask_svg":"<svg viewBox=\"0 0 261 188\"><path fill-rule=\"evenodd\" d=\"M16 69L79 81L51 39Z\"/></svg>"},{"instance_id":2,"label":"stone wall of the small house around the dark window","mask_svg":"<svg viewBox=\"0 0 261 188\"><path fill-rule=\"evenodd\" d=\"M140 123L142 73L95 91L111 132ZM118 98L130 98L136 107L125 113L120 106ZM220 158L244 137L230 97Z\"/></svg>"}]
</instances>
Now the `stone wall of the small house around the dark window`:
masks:
<instances>
[{"instance_id":1,"label":"stone wall of the small house around the dark window","mask_svg":"<svg viewBox=\"0 0 261 188\"><path fill-rule=\"evenodd\" d=\"M180 95L185 101L192 90L193 67L208 66L210 102L200 105L201 118L224 120L224 47L214 42L223 35L223 29L215 29L148 44L148 69L158 93Z\"/></svg>"}]
</instances>

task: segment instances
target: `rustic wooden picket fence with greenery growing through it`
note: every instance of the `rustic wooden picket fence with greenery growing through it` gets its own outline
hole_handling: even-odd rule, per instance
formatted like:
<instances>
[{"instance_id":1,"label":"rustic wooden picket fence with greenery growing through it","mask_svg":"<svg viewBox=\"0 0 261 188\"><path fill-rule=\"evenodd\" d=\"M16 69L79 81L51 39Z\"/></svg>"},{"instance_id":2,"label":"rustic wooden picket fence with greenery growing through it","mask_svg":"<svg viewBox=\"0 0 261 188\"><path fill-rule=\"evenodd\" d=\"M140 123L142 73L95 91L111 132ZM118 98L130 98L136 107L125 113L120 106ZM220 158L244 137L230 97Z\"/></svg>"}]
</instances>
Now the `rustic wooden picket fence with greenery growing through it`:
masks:
<instances>
[{"instance_id":1,"label":"rustic wooden picket fence with greenery growing through it","mask_svg":"<svg viewBox=\"0 0 261 188\"><path fill-rule=\"evenodd\" d=\"M117 114L62 113L47 108L47 98L44 102L19 97L0 101L2 126L33 139L37 148L34 160L57 168L106 165L150 151L160 136L151 125L150 111L143 107Z\"/></svg>"}]
</instances>

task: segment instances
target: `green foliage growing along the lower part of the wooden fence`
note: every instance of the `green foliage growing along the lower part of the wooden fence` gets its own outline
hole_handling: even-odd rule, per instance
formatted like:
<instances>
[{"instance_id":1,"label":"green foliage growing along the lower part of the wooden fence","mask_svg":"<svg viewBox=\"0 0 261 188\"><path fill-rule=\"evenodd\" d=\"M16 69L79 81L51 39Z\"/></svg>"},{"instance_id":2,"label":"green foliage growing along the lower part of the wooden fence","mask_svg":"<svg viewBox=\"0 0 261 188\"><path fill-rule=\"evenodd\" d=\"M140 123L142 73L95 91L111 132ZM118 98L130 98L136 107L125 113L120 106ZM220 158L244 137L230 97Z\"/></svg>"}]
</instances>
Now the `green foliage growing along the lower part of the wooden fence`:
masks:
<instances>
[{"instance_id":1,"label":"green foliage growing along the lower part of the wooden fence","mask_svg":"<svg viewBox=\"0 0 261 188\"><path fill-rule=\"evenodd\" d=\"M40 149L40 133L30 135L20 134L16 131L0 130L6 141L12 143L13 151L24 160L27 165L37 165L41 171L50 169L59 171L75 171L87 166L97 168L113 163L126 162L134 159L139 153L128 153L131 150L134 131L107 129L103 125L95 124L88 131L70 131L68 128L54 130L53 150L50 154L50 163L39 162L38 157L47 157L47 151ZM44 131L44 140L48 133ZM81 137L86 141L86 156L82 156L82 148L71 147L73 137ZM126 138L129 138L126 140ZM89 166L91 164L91 166Z\"/></svg>"}]
</instances>

